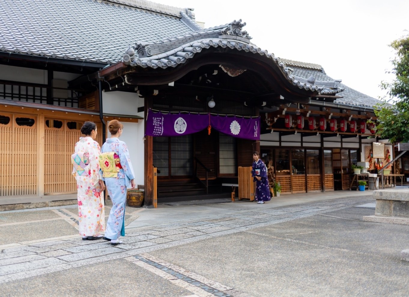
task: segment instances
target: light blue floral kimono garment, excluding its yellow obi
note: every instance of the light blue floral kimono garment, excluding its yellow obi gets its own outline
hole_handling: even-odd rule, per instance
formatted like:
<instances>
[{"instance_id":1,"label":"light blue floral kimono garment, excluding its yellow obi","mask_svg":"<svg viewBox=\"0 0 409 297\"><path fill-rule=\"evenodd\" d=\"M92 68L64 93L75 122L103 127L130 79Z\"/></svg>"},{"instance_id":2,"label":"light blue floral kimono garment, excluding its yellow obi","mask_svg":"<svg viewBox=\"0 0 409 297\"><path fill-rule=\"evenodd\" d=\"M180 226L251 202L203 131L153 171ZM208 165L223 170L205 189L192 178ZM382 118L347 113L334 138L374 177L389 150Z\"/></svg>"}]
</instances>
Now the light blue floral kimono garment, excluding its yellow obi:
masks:
<instances>
[{"instance_id":1,"label":"light blue floral kimono garment, excluding its yellow obi","mask_svg":"<svg viewBox=\"0 0 409 297\"><path fill-rule=\"evenodd\" d=\"M102 145L101 152L114 152L121 160L122 168L119 170L117 177L103 177L112 201L105 237L118 239L119 235L125 235L126 188L131 187L130 180L135 178L135 173L130 163L128 147L124 141L120 141L118 138L108 138Z\"/></svg>"}]
</instances>

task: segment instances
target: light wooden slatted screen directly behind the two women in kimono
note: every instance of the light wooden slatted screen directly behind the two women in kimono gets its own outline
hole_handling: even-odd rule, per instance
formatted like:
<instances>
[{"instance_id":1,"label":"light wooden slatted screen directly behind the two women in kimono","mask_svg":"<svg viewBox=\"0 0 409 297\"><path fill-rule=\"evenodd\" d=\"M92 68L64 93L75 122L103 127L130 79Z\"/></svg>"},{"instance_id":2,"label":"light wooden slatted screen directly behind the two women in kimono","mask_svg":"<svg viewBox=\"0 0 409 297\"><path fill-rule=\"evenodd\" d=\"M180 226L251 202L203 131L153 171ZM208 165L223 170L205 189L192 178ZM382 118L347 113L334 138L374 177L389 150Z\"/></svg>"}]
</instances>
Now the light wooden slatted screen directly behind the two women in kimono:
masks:
<instances>
[{"instance_id":1,"label":"light wooden slatted screen directly behind the two women in kimono","mask_svg":"<svg viewBox=\"0 0 409 297\"><path fill-rule=\"evenodd\" d=\"M47 122L48 121L48 122ZM62 126L54 125L58 121ZM61 194L75 193L76 182L72 176L71 155L74 153L74 145L81 134L83 121L45 119L45 169L44 169L44 193ZM70 128L71 129L70 129ZM98 129L99 128L99 129ZM101 128L97 141L101 145Z\"/></svg>"}]
</instances>

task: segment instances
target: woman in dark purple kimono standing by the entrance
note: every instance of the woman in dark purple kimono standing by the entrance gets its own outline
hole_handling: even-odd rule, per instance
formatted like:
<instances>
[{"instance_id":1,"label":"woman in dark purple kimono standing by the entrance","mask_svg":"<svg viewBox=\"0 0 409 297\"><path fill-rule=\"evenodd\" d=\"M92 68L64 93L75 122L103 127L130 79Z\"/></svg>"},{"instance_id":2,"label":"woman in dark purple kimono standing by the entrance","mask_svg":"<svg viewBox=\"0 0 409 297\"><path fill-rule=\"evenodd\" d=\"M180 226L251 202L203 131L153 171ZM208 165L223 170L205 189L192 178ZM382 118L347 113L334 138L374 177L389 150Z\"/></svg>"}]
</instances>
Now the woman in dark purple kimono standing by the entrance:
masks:
<instances>
[{"instance_id":1,"label":"woman in dark purple kimono standing by the entrance","mask_svg":"<svg viewBox=\"0 0 409 297\"><path fill-rule=\"evenodd\" d=\"M267 179L267 167L259 158L258 152L253 153L253 181L256 182L256 200L257 203L263 204L264 201L270 201L270 186Z\"/></svg>"}]
</instances>

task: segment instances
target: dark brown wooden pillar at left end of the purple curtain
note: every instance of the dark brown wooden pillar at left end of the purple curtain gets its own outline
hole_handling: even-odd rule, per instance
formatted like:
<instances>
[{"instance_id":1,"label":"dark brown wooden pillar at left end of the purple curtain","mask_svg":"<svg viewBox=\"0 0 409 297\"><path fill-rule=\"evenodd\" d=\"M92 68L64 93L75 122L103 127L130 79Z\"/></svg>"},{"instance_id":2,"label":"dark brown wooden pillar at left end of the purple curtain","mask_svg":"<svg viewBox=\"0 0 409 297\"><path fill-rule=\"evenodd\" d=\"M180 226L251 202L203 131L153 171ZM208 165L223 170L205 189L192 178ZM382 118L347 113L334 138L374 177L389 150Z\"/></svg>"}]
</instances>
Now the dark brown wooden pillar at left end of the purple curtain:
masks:
<instances>
[{"instance_id":1,"label":"dark brown wooden pillar at left end of the purple curtain","mask_svg":"<svg viewBox=\"0 0 409 297\"><path fill-rule=\"evenodd\" d=\"M145 97L145 130L146 130L146 116L148 108L151 108L152 100ZM154 208L154 188L153 188L153 137L145 136L144 141L144 155L145 155L145 176L144 176L144 200L146 208Z\"/></svg>"}]
</instances>

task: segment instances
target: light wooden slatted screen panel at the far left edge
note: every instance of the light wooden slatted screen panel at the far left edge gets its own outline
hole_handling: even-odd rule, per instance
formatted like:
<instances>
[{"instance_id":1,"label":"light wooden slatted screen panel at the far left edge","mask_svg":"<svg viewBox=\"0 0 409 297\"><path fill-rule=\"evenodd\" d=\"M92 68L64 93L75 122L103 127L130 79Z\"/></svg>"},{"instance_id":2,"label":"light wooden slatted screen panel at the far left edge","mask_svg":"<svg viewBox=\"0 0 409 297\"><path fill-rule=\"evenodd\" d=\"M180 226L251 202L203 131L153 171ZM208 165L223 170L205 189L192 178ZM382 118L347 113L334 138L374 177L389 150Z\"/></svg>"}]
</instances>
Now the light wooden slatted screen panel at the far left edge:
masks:
<instances>
[{"instance_id":1,"label":"light wooden slatted screen panel at the far left edge","mask_svg":"<svg viewBox=\"0 0 409 297\"><path fill-rule=\"evenodd\" d=\"M37 194L37 117L0 114L0 196ZM18 123L16 122L18 120Z\"/></svg>"}]
</instances>

